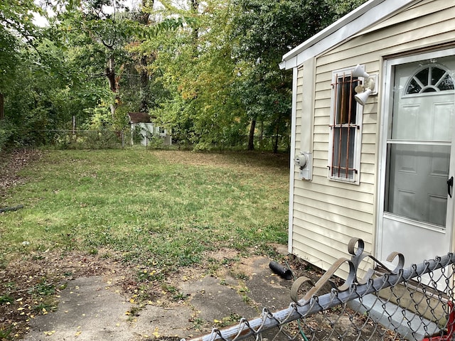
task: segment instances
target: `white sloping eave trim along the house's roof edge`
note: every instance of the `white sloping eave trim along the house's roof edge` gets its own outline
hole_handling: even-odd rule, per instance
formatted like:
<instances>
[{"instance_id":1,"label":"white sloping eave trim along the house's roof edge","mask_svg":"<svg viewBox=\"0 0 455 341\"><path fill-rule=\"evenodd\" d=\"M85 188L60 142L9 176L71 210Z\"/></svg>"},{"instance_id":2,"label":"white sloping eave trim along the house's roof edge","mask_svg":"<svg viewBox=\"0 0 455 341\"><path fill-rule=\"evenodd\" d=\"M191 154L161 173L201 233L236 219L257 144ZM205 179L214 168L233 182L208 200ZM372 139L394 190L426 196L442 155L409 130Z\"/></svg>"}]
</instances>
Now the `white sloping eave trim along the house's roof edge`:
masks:
<instances>
[{"instance_id":1,"label":"white sloping eave trim along the house's roof edge","mask_svg":"<svg viewBox=\"0 0 455 341\"><path fill-rule=\"evenodd\" d=\"M413 2L416 0L369 0L283 55L279 67L297 67Z\"/></svg>"}]
</instances>

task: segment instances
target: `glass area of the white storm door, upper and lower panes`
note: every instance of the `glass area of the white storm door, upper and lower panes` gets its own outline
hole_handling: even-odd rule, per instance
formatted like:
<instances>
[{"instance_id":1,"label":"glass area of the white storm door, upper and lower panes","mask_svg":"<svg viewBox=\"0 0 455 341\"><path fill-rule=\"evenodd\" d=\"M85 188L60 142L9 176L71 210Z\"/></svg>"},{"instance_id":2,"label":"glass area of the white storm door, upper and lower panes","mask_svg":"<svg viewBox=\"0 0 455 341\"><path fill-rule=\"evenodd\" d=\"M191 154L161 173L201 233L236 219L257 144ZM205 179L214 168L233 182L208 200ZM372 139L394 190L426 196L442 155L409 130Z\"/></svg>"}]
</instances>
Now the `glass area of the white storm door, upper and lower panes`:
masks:
<instances>
[{"instance_id":1,"label":"glass area of the white storm door, upper and lower panes","mask_svg":"<svg viewBox=\"0 0 455 341\"><path fill-rule=\"evenodd\" d=\"M429 60L395 67L385 211L444 227L454 117L449 69Z\"/></svg>"}]
</instances>

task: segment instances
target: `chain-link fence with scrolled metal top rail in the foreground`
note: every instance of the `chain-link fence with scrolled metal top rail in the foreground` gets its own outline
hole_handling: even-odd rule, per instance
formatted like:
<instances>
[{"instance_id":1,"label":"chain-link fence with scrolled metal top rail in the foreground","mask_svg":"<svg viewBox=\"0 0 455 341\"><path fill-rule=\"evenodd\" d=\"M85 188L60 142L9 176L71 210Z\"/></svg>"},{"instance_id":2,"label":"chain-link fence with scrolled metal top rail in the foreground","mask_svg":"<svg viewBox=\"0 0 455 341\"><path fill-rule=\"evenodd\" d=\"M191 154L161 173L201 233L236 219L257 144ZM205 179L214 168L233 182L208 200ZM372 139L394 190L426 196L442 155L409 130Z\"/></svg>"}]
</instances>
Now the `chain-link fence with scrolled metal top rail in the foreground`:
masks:
<instances>
[{"instance_id":1,"label":"chain-link fence with scrolled metal top rail in the foreground","mask_svg":"<svg viewBox=\"0 0 455 341\"><path fill-rule=\"evenodd\" d=\"M310 281L297 278L289 308L275 313L264 308L259 318L242 318L237 325L191 341L455 340L454 254L404 269L404 256L393 253L387 261L395 260L397 266L390 270L365 253L361 239L351 239L348 251L351 259L336 261L300 299ZM381 271L372 269L360 278L359 264L366 258ZM342 264L349 267L346 281L318 296Z\"/></svg>"}]
</instances>

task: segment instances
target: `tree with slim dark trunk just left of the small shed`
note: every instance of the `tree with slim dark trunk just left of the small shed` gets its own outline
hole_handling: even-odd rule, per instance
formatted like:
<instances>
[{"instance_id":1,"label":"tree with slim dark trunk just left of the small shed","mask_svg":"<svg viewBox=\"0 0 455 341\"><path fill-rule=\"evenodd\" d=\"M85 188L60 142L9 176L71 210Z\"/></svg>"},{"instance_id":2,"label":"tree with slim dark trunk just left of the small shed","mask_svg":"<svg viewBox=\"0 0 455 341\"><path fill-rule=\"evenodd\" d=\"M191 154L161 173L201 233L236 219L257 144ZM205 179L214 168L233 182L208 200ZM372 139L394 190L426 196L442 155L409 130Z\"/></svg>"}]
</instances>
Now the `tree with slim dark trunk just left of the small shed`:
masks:
<instances>
[{"instance_id":1,"label":"tree with slim dark trunk just left of the small shed","mask_svg":"<svg viewBox=\"0 0 455 341\"><path fill-rule=\"evenodd\" d=\"M104 78L112 93L109 107L112 119L119 104L119 84L124 64L129 58L124 46L134 26L124 13L124 5L116 0L81 1L60 15L57 23L65 45L80 60L80 72L87 80Z\"/></svg>"}]
</instances>

